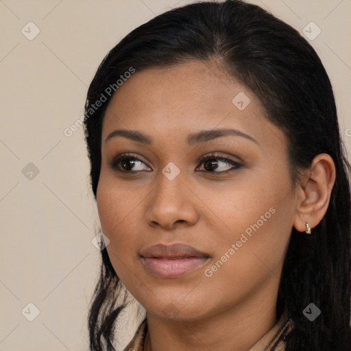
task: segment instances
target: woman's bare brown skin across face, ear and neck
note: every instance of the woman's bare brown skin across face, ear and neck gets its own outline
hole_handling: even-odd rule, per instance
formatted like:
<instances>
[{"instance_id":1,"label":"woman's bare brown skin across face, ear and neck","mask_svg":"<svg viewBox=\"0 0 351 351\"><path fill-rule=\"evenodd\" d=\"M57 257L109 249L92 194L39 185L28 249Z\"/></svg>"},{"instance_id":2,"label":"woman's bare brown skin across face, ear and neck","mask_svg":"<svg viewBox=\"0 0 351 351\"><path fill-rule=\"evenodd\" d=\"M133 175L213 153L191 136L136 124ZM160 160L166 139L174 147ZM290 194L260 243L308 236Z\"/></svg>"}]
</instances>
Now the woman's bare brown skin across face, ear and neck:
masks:
<instances>
[{"instance_id":1,"label":"woman's bare brown skin across face, ear and neck","mask_svg":"<svg viewBox=\"0 0 351 351\"><path fill-rule=\"evenodd\" d=\"M250 97L243 110L232 104L240 92ZM230 135L186 144L190 133L219 128L240 130L256 143ZM105 141L117 129L138 130L153 142ZM285 134L265 119L257 97L215 61L137 71L114 94L103 123L97 208L110 261L147 311L152 350L247 351L277 322L291 230L304 232L308 222L313 233L335 181L332 159L320 154L294 186L286 150ZM126 152L141 160L127 164L130 173L109 167ZM221 174L232 165L217 160L216 169L199 162L211 152L243 166ZM180 170L173 180L162 173L169 162ZM276 212L206 276L205 269L269 208ZM210 260L184 276L159 278L145 271L138 255L157 243L186 243Z\"/></svg>"}]
</instances>

